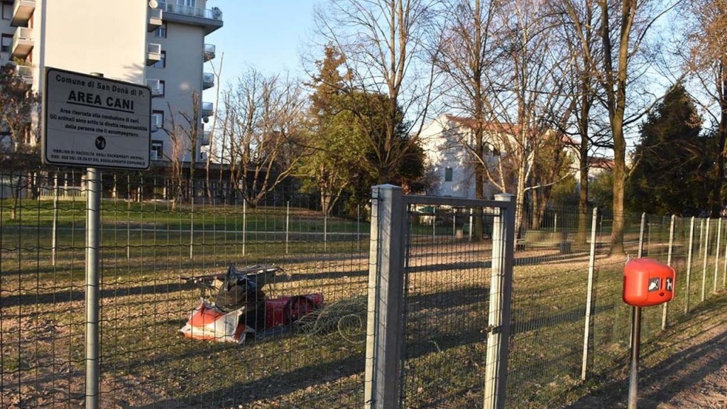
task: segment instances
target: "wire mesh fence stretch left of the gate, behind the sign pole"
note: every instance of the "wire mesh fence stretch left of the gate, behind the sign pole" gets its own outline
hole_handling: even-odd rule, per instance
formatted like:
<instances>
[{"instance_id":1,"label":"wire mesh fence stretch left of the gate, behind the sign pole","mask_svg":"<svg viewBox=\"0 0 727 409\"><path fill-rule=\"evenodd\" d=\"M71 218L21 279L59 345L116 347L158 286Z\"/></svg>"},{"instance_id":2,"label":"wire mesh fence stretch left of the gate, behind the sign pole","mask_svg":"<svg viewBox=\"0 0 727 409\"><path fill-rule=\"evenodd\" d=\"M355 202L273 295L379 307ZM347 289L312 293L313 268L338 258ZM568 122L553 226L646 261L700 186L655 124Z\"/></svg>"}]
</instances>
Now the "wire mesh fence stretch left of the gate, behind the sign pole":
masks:
<instances>
[{"instance_id":1,"label":"wire mesh fence stretch left of the gate, behind the sign pole","mask_svg":"<svg viewBox=\"0 0 727 409\"><path fill-rule=\"evenodd\" d=\"M11 178L22 177L3 179ZM87 204L77 181L72 194L61 184L48 198L17 189L1 202L2 408L84 401ZM114 178L103 181L101 407L361 405L363 207L326 215L319 197L285 192L254 207L201 193L174 202L157 197L158 180L139 179L119 194ZM180 277L222 274L233 263L279 266L283 272L262 289L267 298L320 294L325 307L297 323L258 328L242 346L182 336L204 288Z\"/></svg>"}]
</instances>

